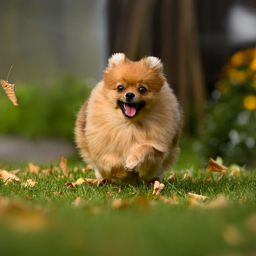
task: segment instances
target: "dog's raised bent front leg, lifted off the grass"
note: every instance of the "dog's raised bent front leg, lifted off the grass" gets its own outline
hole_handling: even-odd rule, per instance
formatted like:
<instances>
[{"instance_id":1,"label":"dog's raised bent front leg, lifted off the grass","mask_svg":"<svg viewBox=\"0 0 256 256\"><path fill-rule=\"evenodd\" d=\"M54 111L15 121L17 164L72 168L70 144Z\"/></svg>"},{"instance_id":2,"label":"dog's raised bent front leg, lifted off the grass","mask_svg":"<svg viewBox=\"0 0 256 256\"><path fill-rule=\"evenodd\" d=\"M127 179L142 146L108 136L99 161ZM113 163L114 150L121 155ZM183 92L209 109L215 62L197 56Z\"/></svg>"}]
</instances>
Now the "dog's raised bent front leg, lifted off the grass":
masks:
<instances>
[{"instance_id":1,"label":"dog's raised bent front leg, lifted off the grass","mask_svg":"<svg viewBox=\"0 0 256 256\"><path fill-rule=\"evenodd\" d=\"M128 156L125 162L125 169L139 172L140 176L144 176L152 165L162 161L163 154L163 152L156 150L152 146L143 144Z\"/></svg>"}]
</instances>

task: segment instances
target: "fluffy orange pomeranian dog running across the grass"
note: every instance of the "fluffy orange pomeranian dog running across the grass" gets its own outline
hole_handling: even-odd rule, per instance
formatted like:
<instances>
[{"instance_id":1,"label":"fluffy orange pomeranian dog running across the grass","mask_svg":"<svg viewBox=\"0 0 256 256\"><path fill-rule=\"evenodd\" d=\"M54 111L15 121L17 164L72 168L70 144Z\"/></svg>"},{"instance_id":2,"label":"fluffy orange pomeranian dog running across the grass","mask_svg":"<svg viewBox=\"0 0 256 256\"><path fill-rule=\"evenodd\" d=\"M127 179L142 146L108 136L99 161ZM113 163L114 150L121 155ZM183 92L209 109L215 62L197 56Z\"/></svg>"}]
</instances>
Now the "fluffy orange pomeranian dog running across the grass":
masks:
<instances>
[{"instance_id":1,"label":"fluffy orange pomeranian dog running across the grass","mask_svg":"<svg viewBox=\"0 0 256 256\"><path fill-rule=\"evenodd\" d=\"M177 160L181 128L161 61L116 53L77 115L75 140L97 179L154 182Z\"/></svg>"}]
</instances>

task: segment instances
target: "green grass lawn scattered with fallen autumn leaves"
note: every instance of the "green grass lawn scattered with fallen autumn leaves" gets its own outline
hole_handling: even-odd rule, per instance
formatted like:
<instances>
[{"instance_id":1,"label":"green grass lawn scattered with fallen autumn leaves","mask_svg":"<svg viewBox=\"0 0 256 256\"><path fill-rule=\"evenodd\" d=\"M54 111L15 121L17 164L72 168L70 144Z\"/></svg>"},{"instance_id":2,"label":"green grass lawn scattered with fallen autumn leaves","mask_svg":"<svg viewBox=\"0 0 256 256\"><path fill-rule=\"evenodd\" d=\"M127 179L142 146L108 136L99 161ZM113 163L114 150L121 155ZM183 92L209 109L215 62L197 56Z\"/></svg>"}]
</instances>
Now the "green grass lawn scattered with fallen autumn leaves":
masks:
<instances>
[{"instance_id":1,"label":"green grass lawn scattered with fallen autumn leaves","mask_svg":"<svg viewBox=\"0 0 256 256\"><path fill-rule=\"evenodd\" d=\"M54 170L59 163L48 174L43 169L50 164L39 172L29 172L27 164L0 164L21 169L20 182L0 182L1 255L256 255L256 171L230 175L228 169L217 182L220 173L186 156L165 174L165 203L144 183L65 186L94 178L79 159L68 159L70 177ZM171 173L175 181L166 180ZM27 179L38 183L25 187ZM77 197L81 202L72 204Z\"/></svg>"}]
</instances>

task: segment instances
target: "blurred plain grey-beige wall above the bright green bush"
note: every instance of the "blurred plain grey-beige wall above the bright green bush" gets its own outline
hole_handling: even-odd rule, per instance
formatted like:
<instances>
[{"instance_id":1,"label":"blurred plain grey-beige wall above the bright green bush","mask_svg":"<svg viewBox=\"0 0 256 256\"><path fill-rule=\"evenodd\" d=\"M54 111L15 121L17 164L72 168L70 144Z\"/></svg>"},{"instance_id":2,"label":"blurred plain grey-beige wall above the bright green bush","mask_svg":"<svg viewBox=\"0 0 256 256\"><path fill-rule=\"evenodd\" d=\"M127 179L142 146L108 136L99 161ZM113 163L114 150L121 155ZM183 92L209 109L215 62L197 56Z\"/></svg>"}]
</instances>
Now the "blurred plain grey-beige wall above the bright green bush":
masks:
<instances>
[{"instance_id":1,"label":"blurred plain grey-beige wall above the bright green bush","mask_svg":"<svg viewBox=\"0 0 256 256\"><path fill-rule=\"evenodd\" d=\"M45 83L100 79L108 58L105 0L1 0L0 77Z\"/></svg>"}]
</instances>

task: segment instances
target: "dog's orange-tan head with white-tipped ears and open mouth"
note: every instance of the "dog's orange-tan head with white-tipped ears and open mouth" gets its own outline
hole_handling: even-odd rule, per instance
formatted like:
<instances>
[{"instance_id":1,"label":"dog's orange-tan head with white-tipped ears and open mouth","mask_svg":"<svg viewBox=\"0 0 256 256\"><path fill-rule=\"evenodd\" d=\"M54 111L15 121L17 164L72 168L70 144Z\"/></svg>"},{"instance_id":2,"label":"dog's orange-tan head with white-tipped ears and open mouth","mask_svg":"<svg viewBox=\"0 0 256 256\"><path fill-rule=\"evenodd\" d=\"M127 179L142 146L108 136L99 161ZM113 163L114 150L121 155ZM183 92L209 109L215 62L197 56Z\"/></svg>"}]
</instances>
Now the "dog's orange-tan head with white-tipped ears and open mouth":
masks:
<instances>
[{"instance_id":1,"label":"dog's orange-tan head with white-tipped ears and open mouth","mask_svg":"<svg viewBox=\"0 0 256 256\"><path fill-rule=\"evenodd\" d=\"M156 57L134 62L124 53L116 53L108 60L103 80L107 99L121 108L125 117L133 118L159 98L165 82L163 64Z\"/></svg>"}]
</instances>

